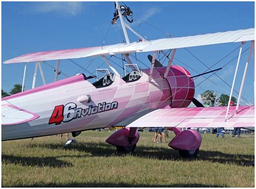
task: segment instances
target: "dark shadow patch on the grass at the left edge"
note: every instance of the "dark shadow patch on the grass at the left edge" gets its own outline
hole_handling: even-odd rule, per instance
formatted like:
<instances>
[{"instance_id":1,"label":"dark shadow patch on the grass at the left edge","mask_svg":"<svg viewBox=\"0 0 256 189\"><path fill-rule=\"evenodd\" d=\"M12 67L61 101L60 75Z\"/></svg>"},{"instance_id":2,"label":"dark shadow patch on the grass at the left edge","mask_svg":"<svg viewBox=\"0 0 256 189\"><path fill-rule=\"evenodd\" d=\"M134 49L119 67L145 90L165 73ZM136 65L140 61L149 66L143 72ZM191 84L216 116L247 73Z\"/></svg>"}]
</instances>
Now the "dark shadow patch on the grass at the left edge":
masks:
<instances>
[{"instance_id":1,"label":"dark shadow patch on the grass at the left edge","mask_svg":"<svg viewBox=\"0 0 256 189\"><path fill-rule=\"evenodd\" d=\"M71 163L67 163L62 160L56 159L56 157L19 157L19 156L6 156L2 155L2 163L16 164L22 166L38 166L38 167L66 167L73 166Z\"/></svg>"}]
</instances>

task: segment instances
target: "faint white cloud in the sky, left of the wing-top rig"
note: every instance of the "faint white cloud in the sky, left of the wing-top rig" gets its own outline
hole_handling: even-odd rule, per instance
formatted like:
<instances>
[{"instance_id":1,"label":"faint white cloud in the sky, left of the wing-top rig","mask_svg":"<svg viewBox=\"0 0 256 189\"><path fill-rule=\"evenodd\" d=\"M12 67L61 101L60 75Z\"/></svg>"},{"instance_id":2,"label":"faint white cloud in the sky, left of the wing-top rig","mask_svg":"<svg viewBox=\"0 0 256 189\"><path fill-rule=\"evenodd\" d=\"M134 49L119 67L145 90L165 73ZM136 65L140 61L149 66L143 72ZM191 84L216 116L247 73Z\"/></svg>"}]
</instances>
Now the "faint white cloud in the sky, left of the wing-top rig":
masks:
<instances>
[{"instance_id":1,"label":"faint white cloud in the sky, left of the wing-top rig","mask_svg":"<svg viewBox=\"0 0 256 189\"><path fill-rule=\"evenodd\" d=\"M42 2L36 3L35 12L58 12L63 15L76 16L83 9L83 2Z\"/></svg>"}]
</instances>

